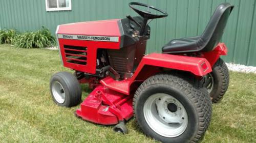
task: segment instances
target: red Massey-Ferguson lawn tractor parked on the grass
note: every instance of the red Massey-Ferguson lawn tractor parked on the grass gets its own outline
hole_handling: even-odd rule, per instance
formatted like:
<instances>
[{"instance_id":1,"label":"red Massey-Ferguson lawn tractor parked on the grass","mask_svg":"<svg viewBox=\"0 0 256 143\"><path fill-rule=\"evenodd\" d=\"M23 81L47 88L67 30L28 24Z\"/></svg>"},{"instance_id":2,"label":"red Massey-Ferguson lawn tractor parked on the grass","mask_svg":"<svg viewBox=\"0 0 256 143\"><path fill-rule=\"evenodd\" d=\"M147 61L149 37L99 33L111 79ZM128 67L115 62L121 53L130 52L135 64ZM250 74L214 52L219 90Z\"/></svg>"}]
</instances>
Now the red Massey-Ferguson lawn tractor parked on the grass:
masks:
<instances>
[{"instance_id":1,"label":"red Massey-Ferguson lawn tractor parked on the grass","mask_svg":"<svg viewBox=\"0 0 256 143\"><path fill-rule=\"evenodd\" d=\"M81 103L77 117L115 125L116 132L128 133L125 122L134 116L156 140L197 142L209 126L212 103L228 88L228 69L220 59L227 47L219 42L233 6L218 6L202 35L171 40L162 53L150 54L148 23L167 13L141 3L129 6L140 16L57 27L62 64L75 72L52 76L53 100L66 107ZM83 83L92 92L80 102Z\"/></svg>"}]
</instances>

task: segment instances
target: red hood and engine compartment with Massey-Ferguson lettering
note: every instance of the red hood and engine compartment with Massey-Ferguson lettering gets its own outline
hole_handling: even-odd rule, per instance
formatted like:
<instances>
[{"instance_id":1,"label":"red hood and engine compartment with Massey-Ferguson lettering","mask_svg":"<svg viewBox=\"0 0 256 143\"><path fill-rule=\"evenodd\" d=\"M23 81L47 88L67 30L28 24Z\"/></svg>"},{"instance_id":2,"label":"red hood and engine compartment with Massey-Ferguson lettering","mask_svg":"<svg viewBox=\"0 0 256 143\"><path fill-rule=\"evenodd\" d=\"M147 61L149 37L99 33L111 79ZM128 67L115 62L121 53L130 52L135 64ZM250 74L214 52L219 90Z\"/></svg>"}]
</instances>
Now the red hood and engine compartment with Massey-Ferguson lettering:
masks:
<instances>
[{"instance_id":1,"label":"red hood and engine compartment with Massey-Ferguson lettering","mask_svg":"<svg viewBox=\"0 0 256 143\"><path fill-rule=\"evenodd\" d=\"M139 24L143 20L134 19ZM139 36L139 30L140 25L128 18L59 25L56 37L62 63L84 75L131 77L150 38L149 26L145 36Z\"/></svg>"}]
</instances>

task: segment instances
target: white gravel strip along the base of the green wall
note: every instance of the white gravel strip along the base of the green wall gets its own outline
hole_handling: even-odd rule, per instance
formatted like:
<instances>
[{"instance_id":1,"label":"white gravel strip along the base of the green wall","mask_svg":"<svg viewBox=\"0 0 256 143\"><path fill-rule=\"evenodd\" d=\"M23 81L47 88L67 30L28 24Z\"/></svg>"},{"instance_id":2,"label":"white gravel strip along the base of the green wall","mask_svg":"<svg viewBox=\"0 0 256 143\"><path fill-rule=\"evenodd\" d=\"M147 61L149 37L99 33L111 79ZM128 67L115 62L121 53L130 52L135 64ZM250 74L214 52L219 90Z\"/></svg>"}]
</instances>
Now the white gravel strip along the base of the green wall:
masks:
<instances>
[{"instance_id":1,"label":"white gravel strip along the base of the green wall","mask_svg":"<svg viewBox=\"0 0 256 143\"><path fill-rule=\"evenodd\" d=\"M47 47L49 50L58 50L58 47ZM226 63L230 71L245 72L245 73L256 73L256 67L245 66L240 64Z\"/></svg>"}]
</instances>

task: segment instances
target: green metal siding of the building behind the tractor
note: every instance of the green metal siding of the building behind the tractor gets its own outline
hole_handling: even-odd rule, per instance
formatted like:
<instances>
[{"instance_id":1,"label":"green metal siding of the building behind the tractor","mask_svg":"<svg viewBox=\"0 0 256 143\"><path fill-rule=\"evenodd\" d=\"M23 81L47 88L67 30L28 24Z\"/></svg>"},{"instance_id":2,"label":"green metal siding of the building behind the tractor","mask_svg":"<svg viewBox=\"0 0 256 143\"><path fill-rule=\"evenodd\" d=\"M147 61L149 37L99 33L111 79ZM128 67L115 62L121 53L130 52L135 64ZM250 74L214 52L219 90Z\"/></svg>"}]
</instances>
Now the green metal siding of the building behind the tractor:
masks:
<instances>
[{"instance_id":1,"label":"green metal siding of the building behind the tractor","mask_svg":"<svg viewBox=\"0 0 256 143\"><path fill-rule=\"evenodd\" d=\"M134 0L136 1L136 0ZM166 10L168 17L153 20L147 52L161 52L171 39L200 35L215 8L229 2L235 6L222 41L229 48L226 62L256 66L256 0L144 0L138 1ZM71 11L46 11L45 0L1 0L1 28L33 31L42 25L52 33L59 24L78 21L123 18L137 15L121 0L72 0ZM107 27L106 27L107 28Z\"/></svg>"}]
</instances>

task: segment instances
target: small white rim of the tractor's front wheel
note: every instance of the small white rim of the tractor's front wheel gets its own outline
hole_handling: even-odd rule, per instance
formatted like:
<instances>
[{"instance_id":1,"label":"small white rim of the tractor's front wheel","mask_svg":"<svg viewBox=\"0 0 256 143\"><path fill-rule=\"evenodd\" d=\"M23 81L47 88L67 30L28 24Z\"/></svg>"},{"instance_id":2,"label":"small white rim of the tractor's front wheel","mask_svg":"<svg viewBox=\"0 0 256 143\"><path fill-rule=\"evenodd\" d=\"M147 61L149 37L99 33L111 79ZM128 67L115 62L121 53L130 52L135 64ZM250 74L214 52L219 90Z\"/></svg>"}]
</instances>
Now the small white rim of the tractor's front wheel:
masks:
<instances>
[{"instance_id":1,"label":"small white rim of the tractor's front wheel","mask_svg":"<svg viewBox=\"0 0 256 143\"><path fill-rule=\"evenodd\" d=\"M62 85L58 81L54 81L52 83L52 94L54 99L59 103L62 104L65 101L65 91Z\"/></svg>"}]
</instances>

